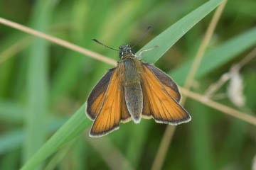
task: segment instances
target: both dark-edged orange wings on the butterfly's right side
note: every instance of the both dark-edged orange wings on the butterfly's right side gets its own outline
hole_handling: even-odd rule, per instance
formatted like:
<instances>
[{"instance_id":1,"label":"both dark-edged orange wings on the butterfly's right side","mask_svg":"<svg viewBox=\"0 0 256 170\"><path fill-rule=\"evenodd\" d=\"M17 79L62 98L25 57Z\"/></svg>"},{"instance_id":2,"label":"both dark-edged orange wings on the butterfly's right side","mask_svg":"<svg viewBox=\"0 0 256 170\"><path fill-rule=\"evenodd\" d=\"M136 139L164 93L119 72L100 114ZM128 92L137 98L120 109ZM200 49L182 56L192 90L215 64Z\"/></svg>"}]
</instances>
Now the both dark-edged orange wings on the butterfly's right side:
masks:
<instances>
[{"instance_id":1,"label":"both dark-edged orange wings on the butterfly's right side","mask_svg":"<svg viewBox=\"0 0 256 170\"><path fill-rule=\"evenodd\" d=\"M191 116L178 103L181 95L171 78L146 63L142 63L141 74L144 96L142 116L144 118L153 117L157 123L170 125L178 125L191 120Z\"/></svg>"}]
</instances>

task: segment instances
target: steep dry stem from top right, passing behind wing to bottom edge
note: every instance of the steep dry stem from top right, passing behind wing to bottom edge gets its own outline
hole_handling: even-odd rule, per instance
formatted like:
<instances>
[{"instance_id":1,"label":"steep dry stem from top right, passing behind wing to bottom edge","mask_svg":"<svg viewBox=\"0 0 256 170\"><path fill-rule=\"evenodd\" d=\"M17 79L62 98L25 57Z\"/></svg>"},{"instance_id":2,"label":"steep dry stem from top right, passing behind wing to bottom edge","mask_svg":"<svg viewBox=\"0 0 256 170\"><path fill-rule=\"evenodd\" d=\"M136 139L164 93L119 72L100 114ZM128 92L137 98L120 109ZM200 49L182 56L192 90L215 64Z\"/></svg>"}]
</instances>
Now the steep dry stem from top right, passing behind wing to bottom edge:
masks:
<instances>
[{"instance_id":1,"label":"steep dry stem from top right, passing behind wing to bottom edge","mask_svg":"<svg viewBox=\"0 0 256 170\"><path fill-rule=\"evenodd\" d=\"M203 58L204 53L206 52L206 47L208 46L208 43L210 42L210 38L213 35L213 31L215 30L215 27L219 21L220 15L223 11L223 8L225 7L227 0L223 1L220 6L216 9L214 16L212 20L210 21L210 25L208 26L208 29L206 30L206 35L203 38L203 42L201 42L201 46L199 47L199 50L196 54L195 60L193 61L192 67L190 71L188 72L188 77L185 82L185 88L190 89L191 84L193 83L193 79L196 75L196 71L199 67L199 64L201 63L201 60ZM181 101L181 105L183 105L186 102L186 98L183 98ZM169 148L169 144L171 142L171 139L175 132L174 126L168 125L165 132L164 137L162 137L162 140L166 140L166 142L161 141L159 149L156 153L156 157L154 159L152 170L159 170L164 164L164 159L166 157L167 150ZM168 138L169 137L169 138Z\"/></svg>"}]
</instances>

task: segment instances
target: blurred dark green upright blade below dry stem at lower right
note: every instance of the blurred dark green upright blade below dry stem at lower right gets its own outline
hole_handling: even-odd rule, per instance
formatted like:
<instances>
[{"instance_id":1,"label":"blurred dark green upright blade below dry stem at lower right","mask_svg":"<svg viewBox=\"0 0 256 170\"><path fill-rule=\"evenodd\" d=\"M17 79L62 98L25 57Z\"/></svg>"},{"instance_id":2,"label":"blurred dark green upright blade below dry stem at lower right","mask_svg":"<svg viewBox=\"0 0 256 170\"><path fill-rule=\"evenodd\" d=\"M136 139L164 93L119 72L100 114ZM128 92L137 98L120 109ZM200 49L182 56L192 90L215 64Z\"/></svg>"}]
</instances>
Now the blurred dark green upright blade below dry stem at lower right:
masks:
<instances>
[{"instance_id":1,"label":"blurred dark green upright blade below dry stem at lower right","mask_svg":"<svg viewBox=\"0 0 256 170\"><path fill-rule=\"evenodd\" d=\"M193 121L191 121L191 148L193 157L193 168L191 169L216 169L215 159L213 157L213 141L210 134L211 118L210 108L198 103L198 101L190 101L189 105L193 106ZM202 162L203 160L203 162Z\"/></svg>"}]
</instances>

